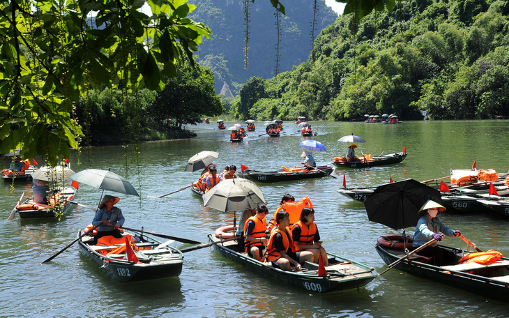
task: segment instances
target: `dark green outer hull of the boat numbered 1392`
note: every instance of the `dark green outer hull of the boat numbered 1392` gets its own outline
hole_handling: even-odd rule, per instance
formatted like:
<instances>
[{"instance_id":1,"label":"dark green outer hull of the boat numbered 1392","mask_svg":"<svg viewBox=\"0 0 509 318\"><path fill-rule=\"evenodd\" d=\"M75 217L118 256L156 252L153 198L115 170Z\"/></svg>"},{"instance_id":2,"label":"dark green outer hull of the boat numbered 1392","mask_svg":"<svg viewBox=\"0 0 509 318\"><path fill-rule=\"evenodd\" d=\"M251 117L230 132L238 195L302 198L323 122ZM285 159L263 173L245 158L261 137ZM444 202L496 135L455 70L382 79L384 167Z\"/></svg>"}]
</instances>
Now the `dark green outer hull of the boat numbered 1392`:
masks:
<instances>
[{"instance_id":1,"label":"dark green outer hull of the boat numbered 1392","mask_svg":"<svg viewBox=\"0 0 509 318\"><path fill-rule=\"evenodd\" d=\"M82 232L78 232L78 237L81 234ZM144 237L146 237L145 234ZM182 271L183 254L176 248L166 247L172 250L174 257L168 257L157 262L134 264L134 262L124 259L107 260L105 255L99 254L90 245L85 243L91 239L91 236L84 236L84 240L79 239L79 251L98 265L107 275L116 280L116 282L137 282L141 280L170 278L180 275ZM147 239L149 242L155 243L154 245L161 243L155 239Z\"/></svg>"}]
</instances>

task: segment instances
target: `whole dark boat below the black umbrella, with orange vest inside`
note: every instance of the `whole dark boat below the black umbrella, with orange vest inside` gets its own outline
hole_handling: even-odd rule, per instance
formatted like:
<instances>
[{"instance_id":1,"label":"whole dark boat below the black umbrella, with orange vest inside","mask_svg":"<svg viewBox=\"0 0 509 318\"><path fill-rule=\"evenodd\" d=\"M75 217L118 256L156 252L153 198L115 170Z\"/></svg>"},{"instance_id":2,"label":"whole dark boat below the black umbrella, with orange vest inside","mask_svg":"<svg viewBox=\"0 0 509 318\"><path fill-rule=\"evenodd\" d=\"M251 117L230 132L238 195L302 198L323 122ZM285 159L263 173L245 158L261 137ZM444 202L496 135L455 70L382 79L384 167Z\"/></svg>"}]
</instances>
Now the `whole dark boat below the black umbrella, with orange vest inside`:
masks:
<instances>
[{"instance_id":1,"label":"whole dark boat below the black umbrella, with orange vest inside","mask_svg":"<svg viewBox=\"0 0 509 318\"><path fill-rule=\"evenodd\" d=\"M466 253L466 251L457 248L438 246L458 255L458 260ZM375 248L386 264L392 264L404 256L403 250L388 248L380 243L377 243ZM503 257L491 265L471 263L434 266L432 259L411 255L410 259L404 258L402 262L395 265L395 268L420 278L458 288L460 292L467 291L500 301L509 301L509 259L507 257Z\"/></svg>"}]
</instances>

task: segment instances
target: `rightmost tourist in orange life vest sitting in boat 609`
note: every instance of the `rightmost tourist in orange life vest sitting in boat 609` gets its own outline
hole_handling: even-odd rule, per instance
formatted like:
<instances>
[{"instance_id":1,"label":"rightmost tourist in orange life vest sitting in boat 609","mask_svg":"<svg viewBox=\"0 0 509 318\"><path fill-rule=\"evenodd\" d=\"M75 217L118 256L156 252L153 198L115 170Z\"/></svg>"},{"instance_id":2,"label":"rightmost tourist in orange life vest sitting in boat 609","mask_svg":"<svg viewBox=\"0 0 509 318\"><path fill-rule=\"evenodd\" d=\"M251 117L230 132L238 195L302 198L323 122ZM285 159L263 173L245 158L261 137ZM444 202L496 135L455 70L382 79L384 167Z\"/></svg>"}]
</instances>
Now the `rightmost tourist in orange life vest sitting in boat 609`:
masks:
<instances>
[{"instance_id":1,"label":"rightmost tourist in orange life vest sitting in boat 609","mask_svg":"<svg viewBox=\"0 0 509 318\"><path fill-rule=\"evenodd\" d=\"M294 240L298 257L301 257L303 251L311 252L313 263L318 263L321 255L324 266L328 266L327 252L321 245L320 234L314 223L314 209L307 207L302 209L300 220L291 229L291 239Z\"/></svg>"}]
</instances>

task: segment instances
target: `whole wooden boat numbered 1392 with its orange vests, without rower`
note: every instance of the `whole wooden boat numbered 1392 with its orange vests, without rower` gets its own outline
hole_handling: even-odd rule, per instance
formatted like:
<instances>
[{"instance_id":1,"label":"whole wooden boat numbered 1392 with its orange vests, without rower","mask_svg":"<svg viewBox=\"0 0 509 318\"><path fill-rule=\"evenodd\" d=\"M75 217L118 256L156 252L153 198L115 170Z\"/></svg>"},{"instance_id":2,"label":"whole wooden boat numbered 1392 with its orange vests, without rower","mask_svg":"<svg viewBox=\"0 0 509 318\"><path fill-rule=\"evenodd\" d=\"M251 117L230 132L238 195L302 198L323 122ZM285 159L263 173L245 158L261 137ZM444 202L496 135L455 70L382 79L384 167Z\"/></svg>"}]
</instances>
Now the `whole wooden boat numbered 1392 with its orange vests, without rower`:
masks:
<instances>
[{"instance_id":1,"label":"whole wooden boat numbered 1392 with its orange vests, without rower","mask_svg":"<svg viewBox=\"0 0 509 318\"><path fill-rule=\"evenodd\" d=\"M79 231L77 235L81 236L82 232ZM88 235L78 240L79 251L117 282L135 282L180 275L184 258L180 250L167 245L158 248L163 243L146 234L124 232L124 235L131 236L135 241L139 239L135 245L139 248L136 253L141 263L135 264L128 261L125 252L107 254L119 248L120 245L93 245L93 236Z\"/></svg>"}]
</instances>

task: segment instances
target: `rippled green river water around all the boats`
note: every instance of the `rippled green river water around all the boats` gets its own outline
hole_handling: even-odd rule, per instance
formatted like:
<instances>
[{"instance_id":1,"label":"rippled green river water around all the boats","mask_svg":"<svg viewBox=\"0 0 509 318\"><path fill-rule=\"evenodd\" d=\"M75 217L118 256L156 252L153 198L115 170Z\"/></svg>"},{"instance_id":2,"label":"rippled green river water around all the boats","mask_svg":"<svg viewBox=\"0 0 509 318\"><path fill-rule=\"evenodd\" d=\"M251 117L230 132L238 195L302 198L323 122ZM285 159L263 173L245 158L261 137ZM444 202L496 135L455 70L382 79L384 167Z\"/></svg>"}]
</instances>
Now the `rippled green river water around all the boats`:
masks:
<instances>
[{"instance_id":1,"label":"rippled green river water around all the boats","mask_svg":"<svg viewBox=\"0 0 509 318\"><path fill-rule=\"evenodd\" d=\"M227 126L231 123L227 123ZM300 135L293 122L284 122L280 138L258 137L249 132L245 142L231 144L227 132L215 123L190 126L194 139L147 142L141 145L139 160L121 146L97 147L72 152L71 167L112 169L125 176L138 189L140 197L119 194L117 206L126 216L126 227L141 228L172 236L206 242L206 235L217 227L232 224L233 213L204 208L202 199L185 189L199 172L184 172L187 160L204 150L218 151L215 163L241 164L251 169L274 170L293 167L301 161ZM296 199L310 197L324 246L330 252L363 262L380 273L386 268L374 249L382 234L398 234L393 229L367 220L363 204L336 192L346 175L347 187L377 185L412 178L424 181L447 176L450 169L469 169L477 160L478 169L509 169L509 125L507 121L408 121L397 125L381 123L312 122L326 152L313 152L317 163L344 156L347 144L337 142L344 135L359 135L367 142L356 152L402 151L409 153L400 164L366 169L336 169L333 176L306 181L260 184L271 215L282 195ZM504 137L506 136L506 137ZM39 162L40 163L40 162ZM128 169L126 169L128 167ZM30 183L0 185L1 218L6 220L22 192ZM113 192L106 192L113 194ZM101 192L80 184L77 202L96 205ZM105 276L77 245L52 262L40 264L73 241L79 229L93 218L93 211L73 207L56 220L3 221L0 225L1 317L507 317L508 305L460 289L413 277L392 269L365 288L331 294L310 294L281 285L232 262L210 248L185 254L178 278L121 285ZM473 213L441 214L441 220L460 229L482 250L493 248L509 255L506 234L509 220L496 215ZM413 234L413 228L407 229ZM466 244L446 237L443 243L458 248ZM185 245L174 243L178 248Z\"/></svg>"}]
</instances>

